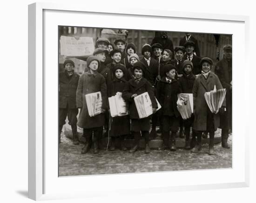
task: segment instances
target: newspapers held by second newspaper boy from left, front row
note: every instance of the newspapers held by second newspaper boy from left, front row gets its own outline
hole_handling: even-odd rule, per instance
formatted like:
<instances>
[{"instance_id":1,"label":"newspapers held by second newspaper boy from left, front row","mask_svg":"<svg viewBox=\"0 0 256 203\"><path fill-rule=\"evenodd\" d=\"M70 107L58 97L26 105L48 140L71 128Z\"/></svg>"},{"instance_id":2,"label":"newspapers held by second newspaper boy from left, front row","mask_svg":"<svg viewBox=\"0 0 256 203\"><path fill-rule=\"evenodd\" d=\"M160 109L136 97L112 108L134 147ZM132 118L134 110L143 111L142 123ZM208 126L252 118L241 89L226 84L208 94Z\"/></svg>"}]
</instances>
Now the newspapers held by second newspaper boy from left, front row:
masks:
<instances>
[{"instance_id":1,"label":"newspapers held by second newspaper boy from left, front row","mask_svg":"<svg viewBox=\"0 0 256 203\"><path fill-rule=\"evenodd\" d=\"M128 115L126 102L122 98L122 93L117 92L115 96L108 97L111 117Z\"/></svg>"}]
</instances>

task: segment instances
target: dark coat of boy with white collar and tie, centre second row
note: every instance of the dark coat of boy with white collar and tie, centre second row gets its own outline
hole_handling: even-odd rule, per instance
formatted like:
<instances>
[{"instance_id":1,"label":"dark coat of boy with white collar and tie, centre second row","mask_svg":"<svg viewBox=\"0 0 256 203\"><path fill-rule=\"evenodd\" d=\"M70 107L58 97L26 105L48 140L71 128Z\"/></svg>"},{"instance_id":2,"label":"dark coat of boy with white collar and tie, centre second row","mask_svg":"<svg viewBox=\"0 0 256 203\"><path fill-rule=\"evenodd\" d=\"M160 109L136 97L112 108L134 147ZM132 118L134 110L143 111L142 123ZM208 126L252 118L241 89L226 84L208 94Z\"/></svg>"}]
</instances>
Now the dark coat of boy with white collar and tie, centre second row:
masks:
<instances>
[{"instance_id":1,"label":"dark coat of boy with white collar and tie, centre second row","mask_svg":"<svg viewBox=\"0 0 256 203\"><path fill-rule=\"evenodd\" d=\"M155 78L158 74L158 62L152 57L150 57L149 66L148 66L148 63L147 63L147 61L145 60L144 57L140 60L140 62L145 65L145 73L144 73L143 77L146 80L148 80L148 82L150 82L150 84L152 86L154 86L155 85Z\"/></svg>"}]
</instances>

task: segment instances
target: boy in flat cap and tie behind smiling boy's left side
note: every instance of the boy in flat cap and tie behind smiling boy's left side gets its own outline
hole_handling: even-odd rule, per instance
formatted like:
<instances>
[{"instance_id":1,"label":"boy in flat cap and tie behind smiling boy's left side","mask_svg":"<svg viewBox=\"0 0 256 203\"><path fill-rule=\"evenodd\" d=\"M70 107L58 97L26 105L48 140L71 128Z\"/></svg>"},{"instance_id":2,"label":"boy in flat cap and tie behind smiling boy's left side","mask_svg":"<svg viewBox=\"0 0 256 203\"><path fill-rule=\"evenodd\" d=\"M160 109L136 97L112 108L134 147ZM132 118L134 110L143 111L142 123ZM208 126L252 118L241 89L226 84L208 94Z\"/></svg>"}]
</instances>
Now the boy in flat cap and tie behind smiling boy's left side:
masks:
<instances>
[{"instance_id":1,"label":"boy in flat cap and tie behind smiling boy's left side","mask_svg":"<svg viewBox=\"0 0 256 203\"><path fill-rule=\"evenodd\" d=\"M193 74L200 75L201 74L201 66L200 66L201 58L197 57L194 54L195 43L189 40L184 44L184 47L186 49L186 55L184 56L184 59L189 60L193 63L193 67L194 67Z\"/></svg>"}]
</instances>

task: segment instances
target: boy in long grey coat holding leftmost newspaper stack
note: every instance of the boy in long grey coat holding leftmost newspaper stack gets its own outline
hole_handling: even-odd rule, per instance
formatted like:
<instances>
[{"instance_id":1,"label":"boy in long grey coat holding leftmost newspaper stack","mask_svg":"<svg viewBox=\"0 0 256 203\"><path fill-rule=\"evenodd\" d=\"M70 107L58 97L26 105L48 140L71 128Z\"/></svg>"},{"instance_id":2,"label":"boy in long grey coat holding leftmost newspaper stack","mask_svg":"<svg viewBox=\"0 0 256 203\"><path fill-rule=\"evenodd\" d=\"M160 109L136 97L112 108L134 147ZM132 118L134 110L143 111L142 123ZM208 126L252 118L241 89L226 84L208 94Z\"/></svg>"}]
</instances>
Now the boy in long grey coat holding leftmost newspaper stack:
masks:
<instances>
[{"instance_id":1,"label":"boy in long grey coat holding leftmost newspaper stack","mask_svg":"<svg viewBox=\"0 0 256 203\"><path fill-rule=\"evenodd\" d=\"M103 131L105 122L104 112L107 108L107 86L105 78L97 71L100 67L99 58L95 56L88 57L87 66L89 70L80 76L76 91L77 107L81 108L77 125L83 128L83 136L86 139L86 143L81 151L82 154L85 154L89 151L91 142L93 142L93 152L99 152L98 141ZM85 95L94 92L101 92L102 113L90 117Z\"/></svg>"}]
</instances>

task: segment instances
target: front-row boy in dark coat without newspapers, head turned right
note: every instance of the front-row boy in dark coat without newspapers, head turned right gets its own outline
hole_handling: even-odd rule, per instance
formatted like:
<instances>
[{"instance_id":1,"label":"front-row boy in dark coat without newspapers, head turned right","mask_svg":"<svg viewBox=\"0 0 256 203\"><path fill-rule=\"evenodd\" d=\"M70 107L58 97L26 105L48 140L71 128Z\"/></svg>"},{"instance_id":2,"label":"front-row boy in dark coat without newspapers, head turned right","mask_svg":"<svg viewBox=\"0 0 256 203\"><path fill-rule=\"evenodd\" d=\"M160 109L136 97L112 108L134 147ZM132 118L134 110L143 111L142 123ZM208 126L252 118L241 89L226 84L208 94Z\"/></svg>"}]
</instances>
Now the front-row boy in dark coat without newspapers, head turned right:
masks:
<instances>
[{"instance_id":1,"label":"front-row boy in dark coat without newspapers, head turned right","mask_svg":"<svg viewBox=\"0 0 256 203\"><path fill-rule=\"evenodd\" d=\"M172 64L166 64L163 66L165 70L165 77L157 83L156 98L162 106L162 148L169 146L169 133L171 130L171 145L169 146L171 151L176 150L175 137L179 129L179 112L177 109L178 94L181 93L181 89L178 81L175 79L176 68Z\"/></svg>"}]
</instances>

